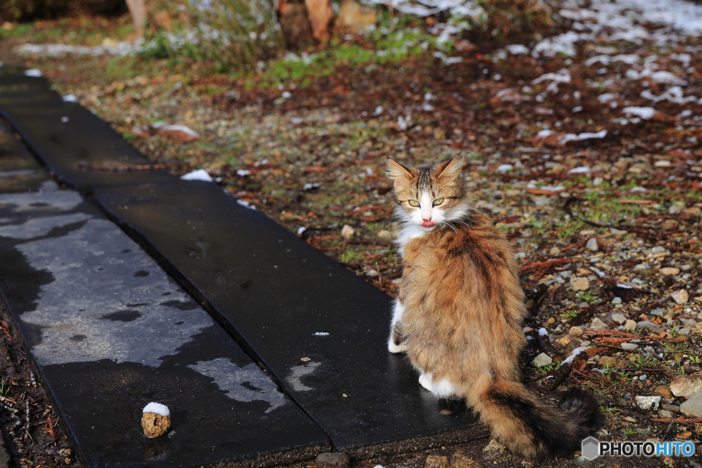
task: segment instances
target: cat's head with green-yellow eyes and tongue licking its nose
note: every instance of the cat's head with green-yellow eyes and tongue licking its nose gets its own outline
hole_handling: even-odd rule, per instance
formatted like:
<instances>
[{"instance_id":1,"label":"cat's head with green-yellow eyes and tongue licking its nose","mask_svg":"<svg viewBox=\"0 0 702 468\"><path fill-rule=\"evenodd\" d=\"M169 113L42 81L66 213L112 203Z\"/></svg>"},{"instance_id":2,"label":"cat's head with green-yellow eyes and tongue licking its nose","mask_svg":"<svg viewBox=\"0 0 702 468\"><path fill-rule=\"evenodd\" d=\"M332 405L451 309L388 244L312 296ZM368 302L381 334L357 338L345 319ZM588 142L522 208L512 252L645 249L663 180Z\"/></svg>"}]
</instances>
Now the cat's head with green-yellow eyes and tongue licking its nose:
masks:
<instances>
[{"instance_id":1,"label":"cat's head with green-yellow eyes and tongue licking its nose","mask_svg":"<svg viewBox=\"0 0 702 468\"><path fill-rule=\"evenodd\" d=\"M462 163L463 160L456 156L451 161L428 168L406 168L388 159L388 175L395 181L395 203L402 208L397 210L402 222L431 231L442 222L465 215Z\"/></svg>"}]
</instances>

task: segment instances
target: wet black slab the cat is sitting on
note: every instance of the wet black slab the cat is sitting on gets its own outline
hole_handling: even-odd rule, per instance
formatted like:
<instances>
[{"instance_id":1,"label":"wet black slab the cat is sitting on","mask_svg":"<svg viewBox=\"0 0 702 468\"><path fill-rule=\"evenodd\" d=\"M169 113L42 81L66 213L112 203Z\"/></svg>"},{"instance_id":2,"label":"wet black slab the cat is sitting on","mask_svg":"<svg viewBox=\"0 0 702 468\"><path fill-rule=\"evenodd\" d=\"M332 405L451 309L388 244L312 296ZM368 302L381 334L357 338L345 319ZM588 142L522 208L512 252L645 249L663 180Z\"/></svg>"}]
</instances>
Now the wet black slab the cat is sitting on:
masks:
<instances>
[{"instance_id":1,"label":"wet black slab the cat is sitting on","mask_svg":"<svg viewBox=\"0 0 702 468\"><path fill-rule=\"evenodd\" d=\"M238 335L338 450L484 436L386 348L390 297L209 182L101 187L95 199Z\"/></svg>"}]
</instances>

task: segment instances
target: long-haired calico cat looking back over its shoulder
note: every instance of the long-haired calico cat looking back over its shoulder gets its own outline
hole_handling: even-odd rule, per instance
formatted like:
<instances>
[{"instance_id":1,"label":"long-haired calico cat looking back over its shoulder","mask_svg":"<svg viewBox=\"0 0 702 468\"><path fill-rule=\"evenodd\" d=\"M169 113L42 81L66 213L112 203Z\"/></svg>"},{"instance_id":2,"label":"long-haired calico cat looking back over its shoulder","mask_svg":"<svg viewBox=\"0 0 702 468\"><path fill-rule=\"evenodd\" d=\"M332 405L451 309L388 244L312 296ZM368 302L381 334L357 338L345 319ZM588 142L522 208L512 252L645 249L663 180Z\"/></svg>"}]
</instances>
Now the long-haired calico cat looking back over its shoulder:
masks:
<instances>
[{"instance_id":1,"label":"long-haired calico cat looking back over its shoulder","mask_svg":"<svg viewBox=\"0 0 702 468\"><path fill-rule=\"evenodd\" d=\"M435 396L465 399L516 453L571 453L602 426L597 400L573 387L553 408L522 385L527 311L517 262L468 201L462 165L458 156L428 168L388 159L403 265L388 348L406 352Z\"/></svg>"}]
</instances>

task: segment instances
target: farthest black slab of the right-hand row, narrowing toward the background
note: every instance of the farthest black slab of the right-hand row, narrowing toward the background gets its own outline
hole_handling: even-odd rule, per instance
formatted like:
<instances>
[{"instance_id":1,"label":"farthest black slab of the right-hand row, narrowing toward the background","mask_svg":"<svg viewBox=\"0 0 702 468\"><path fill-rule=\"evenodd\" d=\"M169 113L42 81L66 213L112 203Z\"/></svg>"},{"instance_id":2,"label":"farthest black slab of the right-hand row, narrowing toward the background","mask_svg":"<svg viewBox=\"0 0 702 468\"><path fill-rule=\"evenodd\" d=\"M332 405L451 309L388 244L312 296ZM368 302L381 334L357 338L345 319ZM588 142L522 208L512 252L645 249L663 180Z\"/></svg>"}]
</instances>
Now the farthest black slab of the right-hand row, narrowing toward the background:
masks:
<instances>
[{"instance_id":1,"label":"farthest black slab of the right-hand row, narrowing toward the background","mask_svg":"<svg viewBox=\"0 0 702 468\"><path fill-rule=\"evenodd\" d=\"M13 70L0 67L0 116L9 121L25 145L61 182L88 192L101 185L138 184L171 177L156 169L124 170L152 163L88 109L62 100L46 80ZM86 169L86 165L112 170Z\"/></svg>"}]
</instances>

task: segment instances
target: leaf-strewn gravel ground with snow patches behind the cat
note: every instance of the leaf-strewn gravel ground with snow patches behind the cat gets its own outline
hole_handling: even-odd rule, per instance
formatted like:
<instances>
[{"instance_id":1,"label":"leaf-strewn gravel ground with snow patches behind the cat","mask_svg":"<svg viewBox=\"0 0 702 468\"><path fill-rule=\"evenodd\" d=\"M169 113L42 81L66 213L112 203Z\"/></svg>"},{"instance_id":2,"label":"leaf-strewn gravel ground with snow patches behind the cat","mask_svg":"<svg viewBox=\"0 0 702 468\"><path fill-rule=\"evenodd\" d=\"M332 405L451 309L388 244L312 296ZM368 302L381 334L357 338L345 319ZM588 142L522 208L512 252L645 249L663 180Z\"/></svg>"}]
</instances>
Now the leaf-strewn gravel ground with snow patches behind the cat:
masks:
<instances>
[{"instance_id":1,"label":"leaf-strewn gravel ground with snow patches behind the cat","mask_svg":"<svg viewBox=\"0 0 702 468\"><path fill-rule=\"evenodd\" d=\"M687 11L689 22L674 30L665 11L614 5L564 8L567 31L538 44L470 48L453 65L429 54L366 67L338 62L312 84L284 89L154 60L102 76L95 69L114 59L20 58L8 42L0 59L41 69L154 162L177 175L206 169L390 295L401 272L385 159L418 164L463 153L476 208L522 261L529 385L550 401L569 385L594 389L607 417L601 440L698 442L702 408L692 396L702 389L680 385L693 386L702 370L702 44L689 24L702 13ZM665 5L669 13L694 7ZM347 44L369 47L363 37ZM166 124L199 138L173 140ZM342 234L345 225L353 234ZM588 347L586 356L559 370L577 347ZM541 367L531 366L542 353ZM564 377L555 389L546 379L554 374ZM10 395L20 393L18 383ZM660 397L657 406L644 409L647 396ZM694 460L530 462L484 452L487 442L355 465L420 467L428 455L457 450L500 467L702 462L699 449Z\"/></svg>"}]
</instances>

